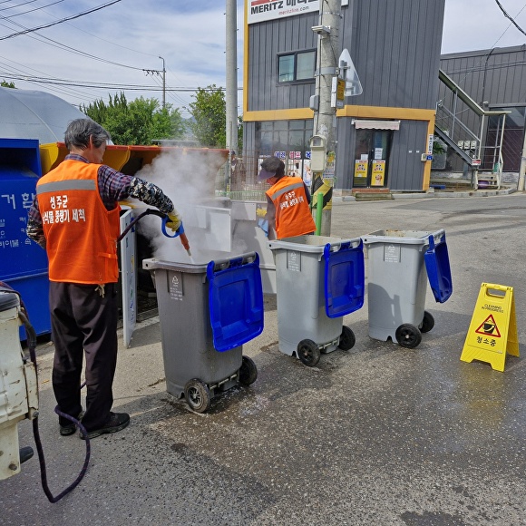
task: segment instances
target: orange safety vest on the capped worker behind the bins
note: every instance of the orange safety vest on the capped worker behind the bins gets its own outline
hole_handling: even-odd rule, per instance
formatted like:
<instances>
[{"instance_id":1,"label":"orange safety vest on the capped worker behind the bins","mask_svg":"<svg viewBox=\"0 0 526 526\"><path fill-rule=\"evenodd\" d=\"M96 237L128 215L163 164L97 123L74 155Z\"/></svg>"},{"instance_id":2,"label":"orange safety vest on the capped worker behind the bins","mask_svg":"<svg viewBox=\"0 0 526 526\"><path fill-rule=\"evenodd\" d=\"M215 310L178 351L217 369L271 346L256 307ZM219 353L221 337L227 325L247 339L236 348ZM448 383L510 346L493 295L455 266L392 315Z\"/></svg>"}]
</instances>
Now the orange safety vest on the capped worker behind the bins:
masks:
<instances>
[{"instance_id":1,"label":"orange safety vest on the capped worker behind the bins","mask_svg":"<svg viewBox=\"0 0 526 526\"><path fill-rule=\"evenodd\" d=\"M316 230L308 206L307 192L299 177L282 177L266 193L276 210L278 239L303 236Z\"/></svg>"}]
</instances>

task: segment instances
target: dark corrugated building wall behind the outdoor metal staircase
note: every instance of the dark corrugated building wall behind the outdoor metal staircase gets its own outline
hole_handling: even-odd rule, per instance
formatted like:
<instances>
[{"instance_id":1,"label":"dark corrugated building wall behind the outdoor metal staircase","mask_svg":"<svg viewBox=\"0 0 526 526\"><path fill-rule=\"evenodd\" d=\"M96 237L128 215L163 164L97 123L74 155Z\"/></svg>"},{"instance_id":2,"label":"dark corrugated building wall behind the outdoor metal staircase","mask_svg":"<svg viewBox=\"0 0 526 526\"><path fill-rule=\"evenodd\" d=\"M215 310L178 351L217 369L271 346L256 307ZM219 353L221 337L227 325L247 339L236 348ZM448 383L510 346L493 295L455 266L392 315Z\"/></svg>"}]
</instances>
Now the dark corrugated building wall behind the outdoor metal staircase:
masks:
<instances>
[{"instance_id":1,"label":"dark corrugated building wall behind the outdoor metal staircase","mask_svg":"<svg viewBox=\"0 0 526 526\"><path fill-rule=\"evenodd\" d=\"M519 171L526 113L526 44L443 54L440 69L484 110L509 112L504 122L503 170ZM439 101L447 97L447 90L441 85ZM475 129L476 116L463 109L459 105L456 112L469 129ZM498 123L490 120L484 130L486 147L491 146L499 132ZM452 170L462 169L458 160L451 159L451 163Z\"/></svg>"}]
</instances>

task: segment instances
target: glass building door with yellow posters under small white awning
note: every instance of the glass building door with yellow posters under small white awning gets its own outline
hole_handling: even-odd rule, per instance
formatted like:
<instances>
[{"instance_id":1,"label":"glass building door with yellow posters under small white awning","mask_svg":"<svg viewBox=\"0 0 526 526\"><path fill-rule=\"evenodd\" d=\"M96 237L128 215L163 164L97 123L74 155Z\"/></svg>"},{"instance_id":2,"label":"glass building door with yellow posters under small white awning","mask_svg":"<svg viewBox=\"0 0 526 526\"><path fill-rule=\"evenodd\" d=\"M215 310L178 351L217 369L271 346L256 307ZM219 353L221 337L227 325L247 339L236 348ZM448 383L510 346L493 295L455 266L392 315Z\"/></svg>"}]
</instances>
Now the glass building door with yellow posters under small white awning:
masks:
<instances>
[{"instance_id":1,"label":"glass building door with yellow posters under small white awning","mask_svg":"<svg viewBox=\"0 0 526 526\"><path fill-rule=\"evenodd\" d=\"M356 130L353 188L386 188L393 132Z\"/></svg>"}]
</instances>

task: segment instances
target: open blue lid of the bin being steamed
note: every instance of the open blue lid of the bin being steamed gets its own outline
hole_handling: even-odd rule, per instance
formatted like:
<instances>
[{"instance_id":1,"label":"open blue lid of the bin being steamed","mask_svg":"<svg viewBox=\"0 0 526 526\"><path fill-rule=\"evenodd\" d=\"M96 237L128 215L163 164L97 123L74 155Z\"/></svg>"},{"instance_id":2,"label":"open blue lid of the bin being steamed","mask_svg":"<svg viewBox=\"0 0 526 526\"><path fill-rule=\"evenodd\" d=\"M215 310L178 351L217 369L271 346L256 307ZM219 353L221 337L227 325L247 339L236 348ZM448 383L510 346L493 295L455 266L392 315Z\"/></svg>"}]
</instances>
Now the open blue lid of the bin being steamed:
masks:
<instances>
[{"instance_id":1,"label":"open blue lid of the bin being steamed","mask_svg":"<svg viewBox=\"0 0 526 526\"><path fill-rule=\"evenodd\" d=\"M263 287L257 252L210 261L209 313L214 347L228 351L263 331Z\"/></svg>"}]
</instances>

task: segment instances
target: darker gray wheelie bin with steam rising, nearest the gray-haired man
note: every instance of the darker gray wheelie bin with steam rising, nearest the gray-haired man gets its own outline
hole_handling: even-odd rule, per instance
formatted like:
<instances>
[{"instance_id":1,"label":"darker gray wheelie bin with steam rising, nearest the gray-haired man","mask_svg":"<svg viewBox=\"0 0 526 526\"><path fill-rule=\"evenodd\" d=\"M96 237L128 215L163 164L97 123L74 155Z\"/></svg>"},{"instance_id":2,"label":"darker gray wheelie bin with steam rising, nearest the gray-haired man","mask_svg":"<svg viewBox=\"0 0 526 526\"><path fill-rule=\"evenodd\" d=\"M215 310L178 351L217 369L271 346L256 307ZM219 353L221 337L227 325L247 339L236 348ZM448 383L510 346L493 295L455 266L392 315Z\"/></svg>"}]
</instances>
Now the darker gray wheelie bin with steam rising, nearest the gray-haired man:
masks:
<instances>
[{"instance_id":1,"label":"darker gray wheelie bin with steam rising, nearest the gray-haired man","mask_svg":"<svg viewBox=\"0 0 526 526\"><path fill-rule=\"evenodd\" d=\"M151 270L161 321L166 387L204 413L210 399L258 370L242 344L263 330L263 290L255 252L185 264L143 259Z\"/></svg>"}]
</instances>

